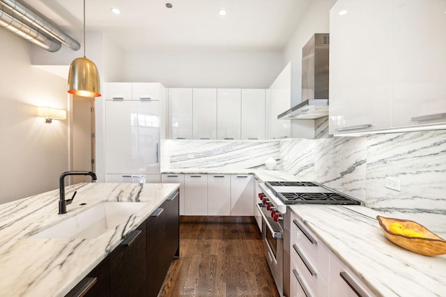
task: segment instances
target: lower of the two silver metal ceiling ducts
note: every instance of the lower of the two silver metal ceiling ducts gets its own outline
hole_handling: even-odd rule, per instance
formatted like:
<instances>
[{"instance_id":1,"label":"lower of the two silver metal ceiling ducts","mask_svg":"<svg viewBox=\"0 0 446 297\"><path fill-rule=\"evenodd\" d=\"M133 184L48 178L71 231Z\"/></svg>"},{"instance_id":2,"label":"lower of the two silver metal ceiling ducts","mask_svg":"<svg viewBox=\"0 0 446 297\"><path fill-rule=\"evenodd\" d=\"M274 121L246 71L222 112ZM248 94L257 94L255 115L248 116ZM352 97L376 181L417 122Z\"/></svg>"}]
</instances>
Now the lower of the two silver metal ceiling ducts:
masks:
<instances>
[{"instance_id":1,"label":"lower of the two silver metal ceiling ducts","mask_svg":"<svg viewBox=\"0 0 446 297\"><path fill-rule=\"evenodd\" d=\"M43 47L48 52L57 52L62 47L59 40L55 40L40 32L39 29L27 25L21 17L10 13L2 5L0 5L0 26L31 41L31 43Z\"/></svg>"}]
</instances>

